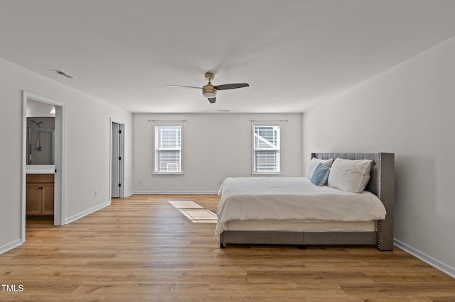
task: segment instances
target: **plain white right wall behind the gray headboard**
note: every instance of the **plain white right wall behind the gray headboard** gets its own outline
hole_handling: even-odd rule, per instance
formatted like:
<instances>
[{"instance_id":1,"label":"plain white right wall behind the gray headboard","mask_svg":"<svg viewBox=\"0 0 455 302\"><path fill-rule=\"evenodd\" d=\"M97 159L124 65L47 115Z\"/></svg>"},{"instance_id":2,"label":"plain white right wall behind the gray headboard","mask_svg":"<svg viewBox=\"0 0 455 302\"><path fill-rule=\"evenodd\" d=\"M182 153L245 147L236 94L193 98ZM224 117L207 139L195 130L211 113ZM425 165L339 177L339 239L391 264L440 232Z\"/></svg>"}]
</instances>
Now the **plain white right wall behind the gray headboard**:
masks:
<instances>
[{"instance_id":1,"label":"plain white right wall behind the gray headboard","mask_svg":"<svg viewBox=\"0 0 455 302\"><path fill-rule=\"evenodd\" d=\"M395 152L395 238L455 272L455 38L304 113L311 152Z\"/></svg>"}]
</instances>

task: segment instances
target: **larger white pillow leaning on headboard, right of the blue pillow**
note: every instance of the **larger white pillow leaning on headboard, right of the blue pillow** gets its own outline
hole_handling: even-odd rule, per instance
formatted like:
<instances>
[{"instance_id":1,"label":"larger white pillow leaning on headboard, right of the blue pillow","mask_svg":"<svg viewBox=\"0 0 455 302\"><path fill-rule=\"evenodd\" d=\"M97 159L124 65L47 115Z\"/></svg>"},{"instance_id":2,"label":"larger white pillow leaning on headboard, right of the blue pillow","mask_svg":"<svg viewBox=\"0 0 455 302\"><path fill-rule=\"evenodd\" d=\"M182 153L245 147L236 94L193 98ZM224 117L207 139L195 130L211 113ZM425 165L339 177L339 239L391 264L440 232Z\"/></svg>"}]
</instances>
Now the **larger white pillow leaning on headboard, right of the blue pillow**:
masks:
<instances>
[{"instance_id":1,"label":"larger white pillow leaning on headboard, right of the blue pillow","mask_svg":"<svg viewBox=\"0 0 455 302\"><path fill-rule=\"evenodd\" d=\"M328 186L346 192L361 193L370 180L371 160L343 160L333 162L328 175Z\"/></svg>"}]
</instances>

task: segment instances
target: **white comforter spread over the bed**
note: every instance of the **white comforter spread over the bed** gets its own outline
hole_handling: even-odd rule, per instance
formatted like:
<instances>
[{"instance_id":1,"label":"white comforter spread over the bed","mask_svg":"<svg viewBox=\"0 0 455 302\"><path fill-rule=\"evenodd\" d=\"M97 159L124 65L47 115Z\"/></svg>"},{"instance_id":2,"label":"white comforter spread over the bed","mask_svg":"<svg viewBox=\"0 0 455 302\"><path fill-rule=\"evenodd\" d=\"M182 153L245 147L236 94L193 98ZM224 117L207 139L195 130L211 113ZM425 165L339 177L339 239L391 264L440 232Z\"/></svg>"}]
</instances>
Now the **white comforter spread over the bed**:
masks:
<instances>
[{"instance_id":1,"label":"white comforter spread over the bed","mask_svg":"<svg viewBox=\"0 0 455 302\"><path fill-rule=\"evenodd\" d=\"M229 177L218 194L215 235L231 220L368 221L385 218L374 194L315 186L305 177Z\"/></svg>"}]
</instances>

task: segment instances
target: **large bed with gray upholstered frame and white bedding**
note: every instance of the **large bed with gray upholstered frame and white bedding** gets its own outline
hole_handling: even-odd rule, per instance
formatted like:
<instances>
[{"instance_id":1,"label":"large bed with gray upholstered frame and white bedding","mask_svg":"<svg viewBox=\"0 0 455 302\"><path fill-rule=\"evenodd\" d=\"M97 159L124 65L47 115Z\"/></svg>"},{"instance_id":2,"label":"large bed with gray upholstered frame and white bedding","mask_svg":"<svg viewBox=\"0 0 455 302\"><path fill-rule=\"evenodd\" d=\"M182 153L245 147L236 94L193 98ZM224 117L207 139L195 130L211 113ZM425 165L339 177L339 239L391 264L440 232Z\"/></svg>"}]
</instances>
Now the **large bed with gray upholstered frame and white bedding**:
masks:
<instances>
[{"instance_id":1,"label":"large bed with gray upholstered frame and white bedding","mask_svg":"<svg viewBox=\"0 0 455 302\"><path fill-rule=\"evenodd\" d=\"M365 191L361 194L341 194L341 198L348 200L353 207L345 208L333 198L331 194L336 194L335 191L339 190L329 186L311 187L312 184L304 177L226 179L220 188L215 230L215 235L220 237L220 247L223 248L226 244L299 245L301 248L306 245L375 245L381 251L392 250L394 154L312 153L311 158L371 160L370 179ZM248 184L247 179L252 184ZM260 187L262 181L264 186ZM255 186L259 192L252 194L245 186ZM308 190L305 194L309 194L306 204L310 206L304 210L298 208L299 200L296 199L302 190ZM324 213L328 216L324 218L319 215L320 209L311 206L316 204L311 201L312 194L316 193L322 194L328 205L327 213ZM279 203L271 203L271 194L275 194L272 199ZM267 199L263 199L264 195L268 196ZM357 200L356 196L362 198ZM374 204L373 199L380 205ZM232 205L237 208L237 213L232 211ZM268 210L262 211L261 205ZM278 214L270 216L267 211Z\"/></svg>"}]
</instances>

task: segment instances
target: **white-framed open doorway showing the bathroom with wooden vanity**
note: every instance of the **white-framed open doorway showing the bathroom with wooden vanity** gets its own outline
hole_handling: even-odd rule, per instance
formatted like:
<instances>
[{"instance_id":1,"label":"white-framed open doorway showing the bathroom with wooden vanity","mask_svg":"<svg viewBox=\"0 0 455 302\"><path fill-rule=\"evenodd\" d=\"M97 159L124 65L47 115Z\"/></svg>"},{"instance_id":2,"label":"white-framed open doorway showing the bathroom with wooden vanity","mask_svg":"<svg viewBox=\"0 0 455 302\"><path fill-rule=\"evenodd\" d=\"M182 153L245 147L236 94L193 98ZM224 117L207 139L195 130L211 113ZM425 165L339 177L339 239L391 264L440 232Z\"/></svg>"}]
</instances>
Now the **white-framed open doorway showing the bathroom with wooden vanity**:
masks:
<instances>
[{"instance_id":1,"label":"white-framed open doorway showing the bathroom with wooden vanity","mask_svg":"<svg viewBox=\"0 0 455 302\"><path fill-rule=\"evenodd\" d=\"M32 107L35 113L31 114ZM50 109L50 110L49 110ZM41 110L41 112L39 112ZM44 110L44 111L43 111ZM53 111L52 113L50 111ZM38 113L36 113L38 112ZM64 224L63 202L63 125L64 105L43 96L23 91L22 94L22 189L21 189L21 241L26 240L27 193L33 186L27 184L33 179L40 182L36 196L43 198L43 208L34 208L48 215L53 208L53 224ZM33 116L33 117L31 117ZM48 125L46 125L48 121ZM52 123L49 121L53 121ZM36 177L36 176L45 177ZM52 177L50 177L52 176ZM52 178L53 184L50 182ZM46 180L47 179L47 180ZM46 192L44 194L44 191ZM35 196L35 197L36 197ZM49 200L49 196L53 198ZM50 203L50 204L49 204ZM30 206L30 205L29 205ZM39 202L38 202L39 206ZM30 211L29 211L30 213Z\"/></svg>"}]
</instances>

